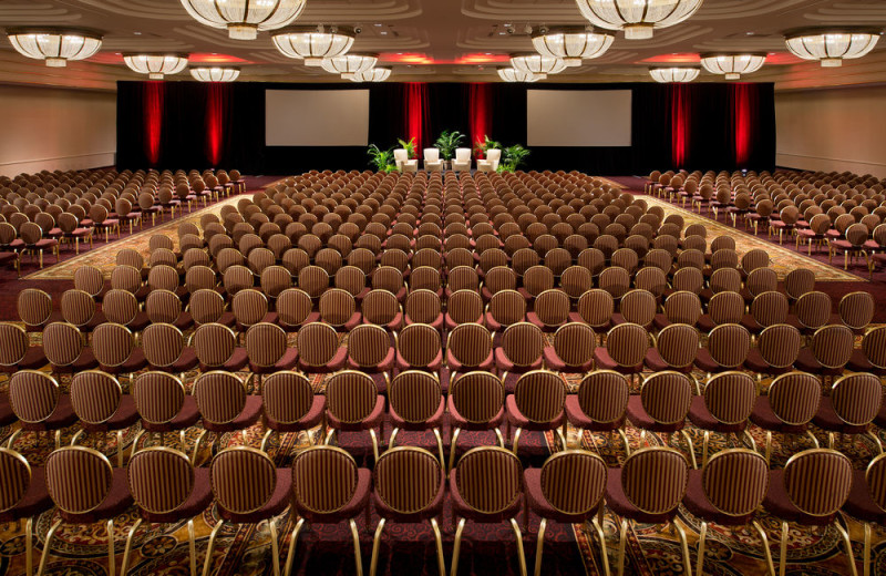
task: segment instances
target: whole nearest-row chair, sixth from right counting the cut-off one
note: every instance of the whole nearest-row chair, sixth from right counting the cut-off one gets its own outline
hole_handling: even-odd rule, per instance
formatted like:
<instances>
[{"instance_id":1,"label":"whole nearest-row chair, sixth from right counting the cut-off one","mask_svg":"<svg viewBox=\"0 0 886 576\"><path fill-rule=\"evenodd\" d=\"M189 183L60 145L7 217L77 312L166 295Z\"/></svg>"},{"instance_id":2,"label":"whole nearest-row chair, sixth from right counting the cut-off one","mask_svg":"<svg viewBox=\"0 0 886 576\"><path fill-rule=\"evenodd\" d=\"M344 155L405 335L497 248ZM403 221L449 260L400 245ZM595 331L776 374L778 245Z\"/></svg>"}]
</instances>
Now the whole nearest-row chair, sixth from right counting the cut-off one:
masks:
<instances>
[{"instance_id":1,"label":"whole nearest-row chair, sixth from right counting the cut-off one","mask_svg":"<svg viewBox=\"0 0 886 576\"><path fill-rule=\"evenodd\" d=\"M457 520L451 576L457 576L464 525L508 521L517 541L519 573L526 574L523 534L516 516L523 507L523 465L503 448L481 446L468 451L450 472L453 522Z\"/></svg>"}]
</instances>

